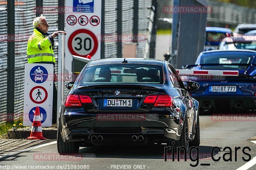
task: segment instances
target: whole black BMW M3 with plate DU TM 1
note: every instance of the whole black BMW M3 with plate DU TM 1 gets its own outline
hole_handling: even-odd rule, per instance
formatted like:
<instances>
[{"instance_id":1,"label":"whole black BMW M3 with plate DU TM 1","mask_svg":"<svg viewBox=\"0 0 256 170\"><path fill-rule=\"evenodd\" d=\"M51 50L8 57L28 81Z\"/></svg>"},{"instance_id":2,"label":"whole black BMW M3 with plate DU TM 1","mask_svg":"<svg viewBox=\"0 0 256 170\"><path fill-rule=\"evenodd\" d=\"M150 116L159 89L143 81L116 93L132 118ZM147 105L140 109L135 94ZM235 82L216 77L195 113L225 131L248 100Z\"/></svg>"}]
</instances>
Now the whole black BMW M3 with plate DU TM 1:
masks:
<instances>
[{"instance_id":1,"label":"whole black BMW M3 with plate DU TM 1","mask_svg":"<svg viewBox=\"0 0 256 170\"><path fill-rule=\"evenodd\" d=\"M188 93L199 84L182 82L166 61L94 60L67 87L59 153L77 153L79 146L200 144L199 104Z\"/></svg>"}]
</instances>

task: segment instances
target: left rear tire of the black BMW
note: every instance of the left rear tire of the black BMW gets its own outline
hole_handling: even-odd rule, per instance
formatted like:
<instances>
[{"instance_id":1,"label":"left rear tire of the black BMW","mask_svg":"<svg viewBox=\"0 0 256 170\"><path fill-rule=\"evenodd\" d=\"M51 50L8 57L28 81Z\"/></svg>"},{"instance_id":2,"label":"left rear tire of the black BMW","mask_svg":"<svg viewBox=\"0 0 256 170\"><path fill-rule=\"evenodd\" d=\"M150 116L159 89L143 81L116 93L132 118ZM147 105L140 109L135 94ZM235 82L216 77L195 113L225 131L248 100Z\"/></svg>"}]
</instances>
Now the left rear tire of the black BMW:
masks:
<instances>
[{"instance_id":1,"label":"left rear tire of the black BMW","mask_svg":"<svg viewBox=\"0 0 256 170\"><path fill-rule=\"evenodd\" d=\"M63 142L60 130L58 127L57 130L57 150L59 154L66 154L66 153L78 153L79 152L79 144L76 142Z\"/></svg>"}]
</instances>

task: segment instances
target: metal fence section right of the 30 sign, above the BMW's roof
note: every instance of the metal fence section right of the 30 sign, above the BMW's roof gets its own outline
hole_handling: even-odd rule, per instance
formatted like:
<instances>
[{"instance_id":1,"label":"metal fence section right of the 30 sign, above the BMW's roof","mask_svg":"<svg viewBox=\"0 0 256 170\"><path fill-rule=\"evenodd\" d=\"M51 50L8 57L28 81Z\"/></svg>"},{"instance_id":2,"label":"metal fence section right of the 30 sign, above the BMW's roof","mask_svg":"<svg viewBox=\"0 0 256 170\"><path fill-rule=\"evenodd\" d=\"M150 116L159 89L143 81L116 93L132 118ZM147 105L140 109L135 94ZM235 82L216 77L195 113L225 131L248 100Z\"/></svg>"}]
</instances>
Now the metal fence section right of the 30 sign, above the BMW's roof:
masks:
<instances>
[{"instance_id":1,"label":"metal fence section right of the 30 sign, above the BMW's roof","mask_svg":"<svg viewBox=\"0 0 256 170\"><path fill-rule=\"evenodd\" d=\"M118 35L118 29L120 27L117 24L117 15L118 11L121 10L122 14L122 24L121 24L121 33L123 36L125 35L133 35L134 32L134 0L122 0L122 8L118 8L118 0L106 0L105 1L105 30L104 35L112 35L120 36ZM138 35L140 36L147 36L150 30L148 29L149 23L150 23L150 13L152 11L152 0L137 0L138 2ZM120 2L119 2L120 3ZM123 52L123 45L124 43L129 43L132 41L123 41L122 43L122 52ZM137 57L143 58L146 47L145 41L139 41L137 45ZM119 41L111 41L111 42L105 42L105 48L104 48L104 54L105 58L116 58L116 57L122 57L118 56L118 43ZM122 54L121 54L122 55Z\"/></svg>"}]
</instances>

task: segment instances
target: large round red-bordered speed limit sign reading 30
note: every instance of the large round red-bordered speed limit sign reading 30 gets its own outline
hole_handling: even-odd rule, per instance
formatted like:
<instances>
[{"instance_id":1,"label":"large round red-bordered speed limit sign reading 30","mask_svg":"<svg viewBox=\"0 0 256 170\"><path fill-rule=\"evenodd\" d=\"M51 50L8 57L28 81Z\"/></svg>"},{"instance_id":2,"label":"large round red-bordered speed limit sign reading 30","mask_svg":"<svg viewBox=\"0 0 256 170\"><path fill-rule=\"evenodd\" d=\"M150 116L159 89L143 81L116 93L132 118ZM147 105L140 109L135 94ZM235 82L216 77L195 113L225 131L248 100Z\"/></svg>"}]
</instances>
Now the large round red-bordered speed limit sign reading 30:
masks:
<instances>
[{"instance_id":1,"label":"large round red-bordered speed limit sign reading 30","mask_svg":"<svg viewBox=\"0 0 256 170\"><path fill-rule=\"evenodd\" d=\"M97 37L90 30L76 30L68 38L68 49L72 55L93 56L98 49Z\"/></svg>"}]
</instances>

